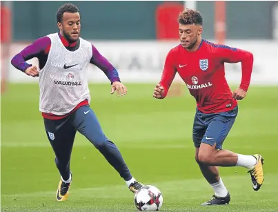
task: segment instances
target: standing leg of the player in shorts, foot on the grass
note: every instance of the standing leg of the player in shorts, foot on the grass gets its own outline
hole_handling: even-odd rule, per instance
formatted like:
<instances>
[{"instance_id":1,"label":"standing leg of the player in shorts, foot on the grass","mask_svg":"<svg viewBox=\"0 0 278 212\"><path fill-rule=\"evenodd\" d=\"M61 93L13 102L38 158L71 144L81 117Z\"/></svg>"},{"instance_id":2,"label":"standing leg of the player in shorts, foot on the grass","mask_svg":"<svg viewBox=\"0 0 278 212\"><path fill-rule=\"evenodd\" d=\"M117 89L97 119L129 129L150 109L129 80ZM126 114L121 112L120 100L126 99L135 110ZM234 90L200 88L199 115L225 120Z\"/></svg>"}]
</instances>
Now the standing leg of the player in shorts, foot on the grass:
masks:
<instances>
[{"instance_id":1,"label":"standing leg of the player in shorts, foot on the grass","mask_svg":"<svg viewBox=\"0 0 278 212\"><path fill-rule=\"evenodd\" d=\"M230 195L228 195L228 190L219 176L219 170L217 166L208 166L199 161L199 146L201 144L201 139L206 133L207 125L203 122L203 115L199 110L196 111L194 124L193 124L193 133L192 138L195 143L195 160L199 165L203 177L206 178L212 189L215 191L215 197L226 197L225 201L220 200L219 198L212 198L208 202L203 203L203 205L212 205L212 204L227 204L230 202ZM228 197L227 197L228 195Z\"/></svg>"}]
</instances>

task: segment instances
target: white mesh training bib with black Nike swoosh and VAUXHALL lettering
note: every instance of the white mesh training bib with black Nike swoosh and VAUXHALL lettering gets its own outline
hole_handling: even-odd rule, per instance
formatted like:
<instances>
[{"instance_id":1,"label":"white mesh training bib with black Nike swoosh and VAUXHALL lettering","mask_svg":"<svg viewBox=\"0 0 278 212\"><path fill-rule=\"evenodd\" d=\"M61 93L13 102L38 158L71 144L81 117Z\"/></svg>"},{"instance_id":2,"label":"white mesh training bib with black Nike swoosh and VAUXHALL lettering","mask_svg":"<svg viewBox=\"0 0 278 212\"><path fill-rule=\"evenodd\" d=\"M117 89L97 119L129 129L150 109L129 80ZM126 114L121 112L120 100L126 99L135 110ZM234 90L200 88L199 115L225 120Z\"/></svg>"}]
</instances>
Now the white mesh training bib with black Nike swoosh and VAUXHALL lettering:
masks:
<instances>
[{"instance_id":1,"label":"white mesh training bib with black Nike swoosh and VAUXHALL lettering","mask_svg":"<svg viewBox=\"0 0 278 212\"><path fill-rule=\"evenodd\" d=\"M87 68L92 57L92 44L80 38L78 50L66 49L58 33L50 34L50 52L46 65L39 72L39 110L65 115L88 99Z\"/></svg>"}]
</instances>

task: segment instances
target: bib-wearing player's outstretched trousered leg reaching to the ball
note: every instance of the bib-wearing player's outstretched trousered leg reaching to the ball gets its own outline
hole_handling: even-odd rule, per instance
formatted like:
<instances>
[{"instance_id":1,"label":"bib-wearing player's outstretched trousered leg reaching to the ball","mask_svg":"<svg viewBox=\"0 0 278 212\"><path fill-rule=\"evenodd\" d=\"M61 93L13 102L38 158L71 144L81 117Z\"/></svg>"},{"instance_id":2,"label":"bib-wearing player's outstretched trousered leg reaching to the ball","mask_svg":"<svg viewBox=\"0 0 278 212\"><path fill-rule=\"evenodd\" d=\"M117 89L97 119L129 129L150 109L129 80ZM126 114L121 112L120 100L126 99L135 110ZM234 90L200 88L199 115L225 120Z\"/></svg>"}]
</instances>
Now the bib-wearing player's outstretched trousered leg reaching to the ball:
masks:
<instances>
[{"instance_id":1,"label":"bib-wearing player's outstretched trousered leg reaching to the ball","mask_svg":"<svg viewBox=\"0 0 278 212\"><path fill-rule=\"evenodd\" d=\"M106 158L111 166L126 181L130 191L135 192L141 184L132 177L117 146L104 135L99 121L90 106L82 106L75 112L75 126Z\"/></svg>"}]
</instances>

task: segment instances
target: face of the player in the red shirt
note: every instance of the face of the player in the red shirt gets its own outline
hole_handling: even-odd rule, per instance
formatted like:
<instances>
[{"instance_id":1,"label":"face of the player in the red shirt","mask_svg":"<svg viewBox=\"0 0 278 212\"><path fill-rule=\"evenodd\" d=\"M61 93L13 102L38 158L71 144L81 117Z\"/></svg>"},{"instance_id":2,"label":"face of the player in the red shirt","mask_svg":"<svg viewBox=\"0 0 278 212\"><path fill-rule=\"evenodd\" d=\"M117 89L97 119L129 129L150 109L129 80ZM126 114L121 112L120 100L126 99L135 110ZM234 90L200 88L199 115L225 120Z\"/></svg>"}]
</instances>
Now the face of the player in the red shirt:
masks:
<instances>
[{"instance_id":1,"label":"face of the player in the red shirt","mask_svg":"<svg viewBox=\"0 0 278 212\"><path fill-rule=\"evenodd\" d=\"M199 35L201 35L203 28L199 25L179 24L179 39L181 40L181 46L183 48L193 48L197 43Z\"/></svg>"}]
</instances>

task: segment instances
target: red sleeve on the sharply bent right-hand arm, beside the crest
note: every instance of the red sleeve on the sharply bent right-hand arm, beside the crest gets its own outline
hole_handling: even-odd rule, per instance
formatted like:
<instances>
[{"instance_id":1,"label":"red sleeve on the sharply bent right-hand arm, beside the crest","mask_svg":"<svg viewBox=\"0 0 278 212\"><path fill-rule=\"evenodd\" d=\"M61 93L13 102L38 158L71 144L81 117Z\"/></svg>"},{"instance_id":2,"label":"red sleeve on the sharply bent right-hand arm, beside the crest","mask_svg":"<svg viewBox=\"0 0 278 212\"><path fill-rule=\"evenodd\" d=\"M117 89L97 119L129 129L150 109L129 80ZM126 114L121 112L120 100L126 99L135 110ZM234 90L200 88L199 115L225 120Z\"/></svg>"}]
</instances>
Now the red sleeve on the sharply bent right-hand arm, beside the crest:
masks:
<instances>
[{"instance_id":1,"label":"red sleeve on the sharply bent right-hand arm, beside the crest","mask_svg":"<svg viewBox=\"0 0 278 212\"><path fill-rule=\"evenodd\" d=\"M247 91L250 85L254 57L251 52L239 48L219 45L217 53L224 63L241 62L241 84L239 88Z\"/></svg>"}]
</instances>

